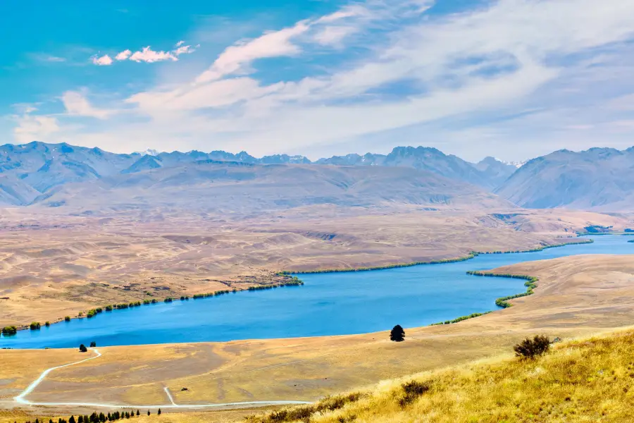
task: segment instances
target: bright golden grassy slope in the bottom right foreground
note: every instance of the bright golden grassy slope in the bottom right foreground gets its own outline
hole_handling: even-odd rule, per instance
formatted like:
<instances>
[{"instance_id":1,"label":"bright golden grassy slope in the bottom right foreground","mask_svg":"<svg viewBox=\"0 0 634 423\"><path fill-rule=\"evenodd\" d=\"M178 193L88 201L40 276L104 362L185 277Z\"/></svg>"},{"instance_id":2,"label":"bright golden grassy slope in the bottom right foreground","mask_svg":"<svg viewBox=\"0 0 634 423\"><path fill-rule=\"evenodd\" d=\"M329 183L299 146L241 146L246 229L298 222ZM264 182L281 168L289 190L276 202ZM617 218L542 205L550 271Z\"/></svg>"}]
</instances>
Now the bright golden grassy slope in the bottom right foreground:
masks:
<instances>
[{"instance_id":1,"label":"bright golden grassy slope in the bottom right foreground","mask_svg":"<svg viewBox=\"0 0 634 423\"><path fill-rule=\"evenodd\" d=\"M412 384L411 382L415 383ZM383 381L250 422L631 422L634 331Z\"/></svg>"}]
</instances>

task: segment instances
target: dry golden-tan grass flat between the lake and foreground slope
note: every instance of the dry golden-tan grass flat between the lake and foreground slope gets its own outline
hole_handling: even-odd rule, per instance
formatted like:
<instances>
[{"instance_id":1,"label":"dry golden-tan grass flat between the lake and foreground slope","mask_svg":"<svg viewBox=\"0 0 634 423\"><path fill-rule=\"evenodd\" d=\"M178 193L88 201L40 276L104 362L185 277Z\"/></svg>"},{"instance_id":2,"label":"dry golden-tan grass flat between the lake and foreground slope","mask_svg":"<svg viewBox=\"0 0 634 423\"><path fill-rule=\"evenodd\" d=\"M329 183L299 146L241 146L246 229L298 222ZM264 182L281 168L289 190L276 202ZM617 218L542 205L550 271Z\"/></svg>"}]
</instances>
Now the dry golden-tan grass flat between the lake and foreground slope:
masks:
<instances>
[{"instance_id":1,"label":"dry golden-tan grass flat between the lake and foreground slope","mask_svg":"<svg viewBox=\"0 0 634 423\"><path fill-rule=\"evenodd\" d=\"M390 342L387 333L368 333L100 348L102 357L56 370L29 398L166 404L163 388L168 386L176 403L183 405L317 400L385 379L509 353L512 345L535 333L570 339L634 324L631 257L574 256L497 271L532 274L540 278L539 287L535 295L513 300L509 309L459 324L406 329L404 343ZM0 351L0 397L5 407L14 405L11 397L39 372L73 362L78 354L27 353L32 356ZM214 413L202 413L207 414L206 421L216 418Z\"/></svg>"}]
</instances>

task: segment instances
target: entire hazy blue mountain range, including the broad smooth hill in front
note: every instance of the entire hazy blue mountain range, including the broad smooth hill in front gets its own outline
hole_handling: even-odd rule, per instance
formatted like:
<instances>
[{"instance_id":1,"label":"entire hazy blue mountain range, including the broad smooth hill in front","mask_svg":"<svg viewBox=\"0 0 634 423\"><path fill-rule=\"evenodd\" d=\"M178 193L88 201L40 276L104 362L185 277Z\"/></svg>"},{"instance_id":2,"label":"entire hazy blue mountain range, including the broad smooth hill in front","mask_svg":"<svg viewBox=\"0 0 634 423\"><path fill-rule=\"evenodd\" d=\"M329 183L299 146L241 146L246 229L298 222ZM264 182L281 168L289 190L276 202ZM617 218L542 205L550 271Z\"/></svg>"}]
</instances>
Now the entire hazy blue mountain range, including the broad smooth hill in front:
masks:
<instances>
[{"instance_id":1,"label":"entire hazy blue mountain range, including the broad smooth hill in front","mask_svg":"<svg viewBox=\"0 0 634 423\"><path fill-rule=\"evenodd\" d=\"M97 205L99 195L108 204L132 207L178 199L194 204L201 196L230 202L237 196L248 207L269 208L471 201L487 207L623 211L634 207L633 159L634 147L561 150L526 164L486 157L473 164L431 147L311 161L224 151L115 154L30 142L0 146L0 205L81 207L82 202Z\"/></svg>"}]
</instances>

